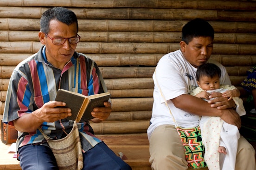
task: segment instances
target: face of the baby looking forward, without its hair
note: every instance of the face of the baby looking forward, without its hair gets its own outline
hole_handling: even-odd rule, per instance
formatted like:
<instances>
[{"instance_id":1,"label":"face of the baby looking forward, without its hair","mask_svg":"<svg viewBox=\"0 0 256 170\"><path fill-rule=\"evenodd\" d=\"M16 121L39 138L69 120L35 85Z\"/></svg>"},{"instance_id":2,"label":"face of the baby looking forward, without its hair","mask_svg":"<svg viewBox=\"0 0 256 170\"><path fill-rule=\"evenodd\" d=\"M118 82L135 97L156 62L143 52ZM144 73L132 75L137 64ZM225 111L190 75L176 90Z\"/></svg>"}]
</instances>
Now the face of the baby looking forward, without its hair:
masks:
<instances>
[{"instance_id":1,"label":"face of the baby looking forward, without its hair","mask_svg":"<svg viewBox=\"0 0 256 170\"><path fill-rule=\"evenodd\" d=\"M202 76L198 81L198 86L201 87L203 90L219 89L219 77L218 75L214 76L213 78Z\"/></svg>"}]
</instances>

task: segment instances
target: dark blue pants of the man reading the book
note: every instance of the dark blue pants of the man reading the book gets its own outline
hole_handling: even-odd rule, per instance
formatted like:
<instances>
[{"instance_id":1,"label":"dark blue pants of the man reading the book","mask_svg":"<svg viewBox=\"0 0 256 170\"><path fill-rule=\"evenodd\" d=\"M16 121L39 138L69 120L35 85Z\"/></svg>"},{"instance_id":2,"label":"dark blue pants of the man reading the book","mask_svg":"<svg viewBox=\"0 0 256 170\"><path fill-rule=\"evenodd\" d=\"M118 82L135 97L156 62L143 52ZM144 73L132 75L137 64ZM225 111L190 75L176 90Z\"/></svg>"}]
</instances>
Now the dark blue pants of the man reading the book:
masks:
<instances>
[{"instance_id":1,"label":"dark blue pants of the man reading the book","mask_svg":"<svg viewBox=\"0 0 256 170\"><path fill-rule=\"evenodd\" d=\"M47 146L22 146L19 156L22 170L58 170L54 155ZM83 170L131 170L131 167L101 142L83 153Z\"/></svg>"}]
</instances>

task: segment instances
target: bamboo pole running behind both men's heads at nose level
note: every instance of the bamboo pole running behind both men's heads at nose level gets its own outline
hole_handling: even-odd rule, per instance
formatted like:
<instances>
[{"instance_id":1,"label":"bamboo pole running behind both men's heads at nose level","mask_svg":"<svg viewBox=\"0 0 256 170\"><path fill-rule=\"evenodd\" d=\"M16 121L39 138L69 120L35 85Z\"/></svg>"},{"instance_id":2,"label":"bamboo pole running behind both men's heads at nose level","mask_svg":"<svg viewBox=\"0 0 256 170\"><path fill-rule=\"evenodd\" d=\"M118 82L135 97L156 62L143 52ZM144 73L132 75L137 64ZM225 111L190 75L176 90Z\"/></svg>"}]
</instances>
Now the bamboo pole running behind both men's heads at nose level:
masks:
<instances>
[{"instance_id":1,"label":"bamboo pole running behind both men's heads at nose level","mask_svg":"<svg viewBox=\"0 0 256 170\"><path fill-rule=\"evenodd\" d=\"M36 53L40 42L0 42L2 53ZM214 44L213 54L256 55L254 44ZM77 51L81 53L107 54L167 54L180 49L179 43L129 43L129 42L79 42Z\"/></svg>"}]
</instances>

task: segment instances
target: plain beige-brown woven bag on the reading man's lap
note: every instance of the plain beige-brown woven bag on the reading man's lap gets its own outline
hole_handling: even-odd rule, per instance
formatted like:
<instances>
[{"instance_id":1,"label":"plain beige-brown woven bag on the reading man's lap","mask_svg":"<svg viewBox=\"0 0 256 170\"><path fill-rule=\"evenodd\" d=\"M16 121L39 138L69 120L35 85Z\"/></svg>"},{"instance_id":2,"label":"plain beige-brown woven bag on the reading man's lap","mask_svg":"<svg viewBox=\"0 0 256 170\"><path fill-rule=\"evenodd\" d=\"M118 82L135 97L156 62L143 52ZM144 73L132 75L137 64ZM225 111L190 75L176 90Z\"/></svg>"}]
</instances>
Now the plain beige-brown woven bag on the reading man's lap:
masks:
<instances>
[{"instance_id":1,"label":"plain beige-brown woven bag on the reading man's lap","mask_svg":"<svg viewBox=\"0 0 256 170\"><path fill-rule=\"evenodd\" d=\"M81 170L83 168L83 154L80 142L77 121L70 133L59 140L49 138L41 128L39 131L44 135L45 140L53 152L59 170Z\"/></svg>"}]
</instances>

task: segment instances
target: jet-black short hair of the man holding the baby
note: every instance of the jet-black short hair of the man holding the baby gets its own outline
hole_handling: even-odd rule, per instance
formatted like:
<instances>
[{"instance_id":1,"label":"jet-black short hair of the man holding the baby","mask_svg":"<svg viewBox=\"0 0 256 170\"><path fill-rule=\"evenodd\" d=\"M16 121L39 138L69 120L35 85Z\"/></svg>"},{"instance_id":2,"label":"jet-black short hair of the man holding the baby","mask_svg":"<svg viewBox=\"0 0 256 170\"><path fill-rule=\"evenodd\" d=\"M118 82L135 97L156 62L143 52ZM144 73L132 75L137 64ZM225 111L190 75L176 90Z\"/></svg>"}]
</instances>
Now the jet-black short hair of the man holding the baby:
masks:
<instances>
[{"instance_id":1,"label":"jet-black short hair of the man holding the baby","mask_svg":"<svg viewBox=\"0 0 256 170\"><path fill-rule=\"evenodd\" d=\"M209 24L204 19L196 18L183 26L181 40L186 42L186 44L191 42L194 37L200 36L210 36L212 40L214 39L214 30L211 24Z\"/></svg>"}]
</instances>

